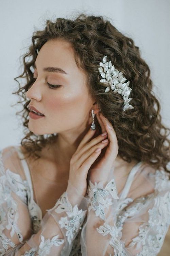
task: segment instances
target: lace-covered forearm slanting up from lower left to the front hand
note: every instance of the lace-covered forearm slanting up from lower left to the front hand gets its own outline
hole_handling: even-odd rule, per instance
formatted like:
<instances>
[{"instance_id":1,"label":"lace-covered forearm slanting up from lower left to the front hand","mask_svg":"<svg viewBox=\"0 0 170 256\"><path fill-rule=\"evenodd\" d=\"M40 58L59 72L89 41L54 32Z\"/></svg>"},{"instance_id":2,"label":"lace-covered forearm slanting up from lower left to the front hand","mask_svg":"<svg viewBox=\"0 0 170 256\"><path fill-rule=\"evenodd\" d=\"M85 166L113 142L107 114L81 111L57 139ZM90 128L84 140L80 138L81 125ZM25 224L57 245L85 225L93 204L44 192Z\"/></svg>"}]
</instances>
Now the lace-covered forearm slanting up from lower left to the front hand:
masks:
<instances>
[{"instance_id":1,"label":"lace-covered forearm slanting up from lower left to the front hand","mask_svg":"<svg viewBox=\"0 0 170 256\"><path fill-rule=\"evenodd\" d=\"M40 230L15 255L69 255L82 228L89 200L72 187L45 214Z\"/></svg>"}]
</instances>

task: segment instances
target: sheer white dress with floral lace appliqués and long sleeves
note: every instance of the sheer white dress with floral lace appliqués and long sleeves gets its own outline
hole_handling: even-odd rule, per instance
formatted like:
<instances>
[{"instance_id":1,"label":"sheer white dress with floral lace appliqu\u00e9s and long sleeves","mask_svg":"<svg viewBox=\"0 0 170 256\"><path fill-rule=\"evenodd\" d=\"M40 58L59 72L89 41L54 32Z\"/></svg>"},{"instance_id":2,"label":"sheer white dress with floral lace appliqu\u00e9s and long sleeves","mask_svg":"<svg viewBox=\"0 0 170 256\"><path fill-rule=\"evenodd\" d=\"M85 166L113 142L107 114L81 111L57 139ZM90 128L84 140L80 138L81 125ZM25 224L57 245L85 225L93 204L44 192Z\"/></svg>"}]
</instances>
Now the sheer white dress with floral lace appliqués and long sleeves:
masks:
<instances>
[{"instance_id":1,"label":"sheer white dress with floral lace appliqu\u00e9s and long sleeves","mask_svg":"<svg viewBox=\"0 0 170 256\"><path fill-rule=\"evenodd\" d=\"M42 218L23 157L19 146L0 150L0 255L159 253L170 224L170 181L164 170L138 162L119 194L112 170L106 184L90 181L88 195L75 205L64 192Z\"/></svg>"}]
</instances>

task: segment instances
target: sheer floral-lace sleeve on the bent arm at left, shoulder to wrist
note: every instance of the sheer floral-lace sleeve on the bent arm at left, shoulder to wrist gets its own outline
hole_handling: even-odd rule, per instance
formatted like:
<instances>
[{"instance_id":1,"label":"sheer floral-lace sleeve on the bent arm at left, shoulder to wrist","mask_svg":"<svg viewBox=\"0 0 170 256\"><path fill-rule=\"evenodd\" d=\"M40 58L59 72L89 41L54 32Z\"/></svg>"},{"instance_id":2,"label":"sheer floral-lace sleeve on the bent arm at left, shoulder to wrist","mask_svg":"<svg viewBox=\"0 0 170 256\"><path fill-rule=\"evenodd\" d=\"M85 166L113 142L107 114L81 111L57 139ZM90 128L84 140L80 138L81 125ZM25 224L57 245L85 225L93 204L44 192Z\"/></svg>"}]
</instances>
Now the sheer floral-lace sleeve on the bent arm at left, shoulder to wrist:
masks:
<instances>
[{"instance_id":1,"label":"sheer floral-lace sleeve on the bent arm at left, shoulder to wrist","mask_svg":"<svg viewBox=\"0 0 170 256\"><path fill-rule=\"evenodd\" d=\"M88 199L70 184L72 190L61 195L33 234L26 181L15 173L15 165L13 171L4 168L7 162L2 151L0 157L0 255L69 255L86 216Z\"/></svg>"}]
</instances>

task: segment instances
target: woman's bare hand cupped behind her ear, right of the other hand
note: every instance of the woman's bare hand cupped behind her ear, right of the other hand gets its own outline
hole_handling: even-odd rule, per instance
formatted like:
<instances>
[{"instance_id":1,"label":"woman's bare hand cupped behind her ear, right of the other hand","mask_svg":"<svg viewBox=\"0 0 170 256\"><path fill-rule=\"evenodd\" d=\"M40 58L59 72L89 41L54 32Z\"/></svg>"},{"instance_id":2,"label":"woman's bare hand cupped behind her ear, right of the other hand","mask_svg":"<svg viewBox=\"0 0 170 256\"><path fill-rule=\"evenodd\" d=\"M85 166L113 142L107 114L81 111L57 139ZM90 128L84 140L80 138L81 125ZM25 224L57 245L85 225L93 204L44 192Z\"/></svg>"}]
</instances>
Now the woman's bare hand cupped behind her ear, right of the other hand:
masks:
<instances>
[{"instance_id":1,"label":"woman's bare hand cupped behind her ear, right of the other hand","mask_svg":"<svg viewBox=\"0 0 170 256\"><path fill-rule=\"evenodd\" d=\"M105 148L105 153L102 158L99 161L97 159L97 163L92 165L92 169L89 171L89 179L93 183L95 181L101 181L103 184L105 184L108 181L109 174L111 174L114 169L114 161L117 157L119 147L116 133L112 124L102 114L97 113L96 116L102 128L102 132L106 131L108 133L109 143L107 143L108 145L107 148Z\"/></svg>"}]
</instances>

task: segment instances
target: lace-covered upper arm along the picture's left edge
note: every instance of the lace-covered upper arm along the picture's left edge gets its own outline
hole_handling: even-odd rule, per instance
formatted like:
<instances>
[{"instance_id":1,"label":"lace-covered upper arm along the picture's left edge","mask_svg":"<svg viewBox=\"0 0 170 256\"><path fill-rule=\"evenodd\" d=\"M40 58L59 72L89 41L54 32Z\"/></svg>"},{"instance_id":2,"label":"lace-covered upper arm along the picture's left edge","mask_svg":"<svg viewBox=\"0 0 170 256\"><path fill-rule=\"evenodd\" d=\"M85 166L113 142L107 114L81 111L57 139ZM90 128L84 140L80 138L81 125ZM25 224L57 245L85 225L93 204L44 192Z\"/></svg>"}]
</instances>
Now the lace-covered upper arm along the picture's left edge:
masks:
<instances>
[{"instance_id":1,"label":"lace-covered upper arm along the picture's left edge","mask_svg":"<svg viewBox=\"0 0 170 256\"><path fill-rule=\"evenodd\" d=\"M4 155L0 150L0 255L11 255L23 239L30 237L31 221L26 183L18 173L8 168L8 157Z\"/></svg>"}]
</instances>

